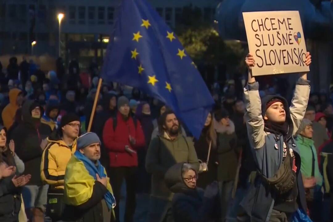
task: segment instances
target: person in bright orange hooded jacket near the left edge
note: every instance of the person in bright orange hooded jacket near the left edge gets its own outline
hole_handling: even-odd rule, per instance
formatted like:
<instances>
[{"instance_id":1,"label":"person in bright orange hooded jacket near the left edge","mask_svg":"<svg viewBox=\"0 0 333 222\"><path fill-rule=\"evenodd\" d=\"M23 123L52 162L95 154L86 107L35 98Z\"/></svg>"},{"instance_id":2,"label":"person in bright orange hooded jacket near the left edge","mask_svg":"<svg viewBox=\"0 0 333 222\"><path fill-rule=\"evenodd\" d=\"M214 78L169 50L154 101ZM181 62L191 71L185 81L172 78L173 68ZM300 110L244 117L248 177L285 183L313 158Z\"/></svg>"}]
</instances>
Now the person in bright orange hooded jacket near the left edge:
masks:
<instances>
[{"instance_id":1,"label":"person in bright orange hooded jacket near the left edge","mask_svg":"<svg viewBox=\"0 0 333 222\"><path fill-rule=\"evenodd\" d=\"M2 120L4 126L9 129L14 123L16 111L22 106L23 93L19 89L9 91L9 104L2 111Z\"/></svg>"}]
</instances>

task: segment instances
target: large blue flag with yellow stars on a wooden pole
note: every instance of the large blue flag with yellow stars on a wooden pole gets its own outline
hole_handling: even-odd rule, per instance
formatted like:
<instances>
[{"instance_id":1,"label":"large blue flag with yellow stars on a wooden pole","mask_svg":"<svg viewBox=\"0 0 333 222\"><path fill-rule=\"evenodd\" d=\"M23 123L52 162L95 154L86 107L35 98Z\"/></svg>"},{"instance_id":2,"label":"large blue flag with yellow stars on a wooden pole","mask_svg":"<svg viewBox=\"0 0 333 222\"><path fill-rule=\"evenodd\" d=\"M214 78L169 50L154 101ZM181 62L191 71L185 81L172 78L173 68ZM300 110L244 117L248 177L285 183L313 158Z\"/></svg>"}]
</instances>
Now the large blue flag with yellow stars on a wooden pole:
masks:
<instances>
[{"instance_id":1,"label":"large blue flag with yellow stars on a wooden pole","mask_svg":"<svg viewBox=\"0 0 333 222\"><path fill-rule=\"evenodd\" d=\"M199 137L214 101L174 32L146 0L123 0L101 78L164 102Z\"/></svg>"}]
</instances>

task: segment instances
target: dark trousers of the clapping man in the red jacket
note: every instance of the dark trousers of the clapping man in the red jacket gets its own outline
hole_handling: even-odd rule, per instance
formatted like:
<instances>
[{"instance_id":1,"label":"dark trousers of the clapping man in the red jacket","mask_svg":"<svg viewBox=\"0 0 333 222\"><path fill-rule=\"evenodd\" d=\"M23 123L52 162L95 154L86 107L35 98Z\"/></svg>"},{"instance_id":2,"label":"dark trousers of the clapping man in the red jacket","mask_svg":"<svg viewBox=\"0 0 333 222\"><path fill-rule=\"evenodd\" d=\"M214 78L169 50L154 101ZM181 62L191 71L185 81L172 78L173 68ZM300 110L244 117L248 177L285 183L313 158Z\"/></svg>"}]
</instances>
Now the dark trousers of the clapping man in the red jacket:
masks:
<instances>
[{"instance_id":1,"label":"dark trousers of the clapping man in the red jacket","mask_svg":"<svg viewBox=\"0 0 333 222\"><path fill-rule=\"evenodd\" d=\"M119 201L123 179L126 181L126 208L124 222L133 222L133 216L136 207L135 190L136 190L136 170L137 167L110 167L109 177L116 198L116 222L119 222Z\"/></svg>"}]
</instances>

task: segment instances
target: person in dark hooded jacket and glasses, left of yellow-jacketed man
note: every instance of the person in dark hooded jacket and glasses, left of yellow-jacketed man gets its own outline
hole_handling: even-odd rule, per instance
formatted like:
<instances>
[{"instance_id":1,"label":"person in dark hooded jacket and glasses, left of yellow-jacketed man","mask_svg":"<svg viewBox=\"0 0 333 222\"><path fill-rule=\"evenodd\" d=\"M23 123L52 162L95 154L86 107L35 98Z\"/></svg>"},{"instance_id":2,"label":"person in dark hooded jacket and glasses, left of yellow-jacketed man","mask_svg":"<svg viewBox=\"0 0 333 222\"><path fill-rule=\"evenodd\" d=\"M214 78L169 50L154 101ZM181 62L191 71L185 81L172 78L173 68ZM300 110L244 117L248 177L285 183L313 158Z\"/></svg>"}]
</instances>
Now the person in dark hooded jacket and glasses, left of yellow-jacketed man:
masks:
<instances>
[{"instance_id":1,"label":"person in dark hooded jacket and glasses, left of yellow-jacketed man","mask_svg":"<svg viewBox=\"0 0 333 222\"><path fill-rule=\"evenodd\" d=\"M48 185L40 177L40 163L50 126L41 123L41 106L32 100L22 106L22 123L13 131L16 153L25 165L24 174L31 174L31 180L22 190L26 213L29 219L44 221Z\"/></svg>"}]
</instances>

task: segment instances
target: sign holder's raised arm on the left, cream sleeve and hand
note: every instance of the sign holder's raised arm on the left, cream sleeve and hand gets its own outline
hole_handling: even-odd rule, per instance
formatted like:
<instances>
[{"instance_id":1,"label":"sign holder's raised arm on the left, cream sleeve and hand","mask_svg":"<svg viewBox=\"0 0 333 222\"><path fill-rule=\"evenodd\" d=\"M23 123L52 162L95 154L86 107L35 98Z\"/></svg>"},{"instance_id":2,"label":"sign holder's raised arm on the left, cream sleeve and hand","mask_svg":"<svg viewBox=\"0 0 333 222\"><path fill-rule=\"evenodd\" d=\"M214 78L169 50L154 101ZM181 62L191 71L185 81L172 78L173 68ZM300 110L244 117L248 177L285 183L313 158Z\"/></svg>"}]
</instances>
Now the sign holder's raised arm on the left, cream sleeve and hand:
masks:
<instances>
[{"instance_id":1,"label":"sign holder's raised arm on the left, cream sleeve and hand","mask_svg":"<svg viewBox=\"0 0 333 222\"><path fill-rule=\"evenodd\" d=\"M251 54L245 58L245 63L248 68L247 86L244 88L245 105L246 105L246 126L249 140L253 142L254 148L261 148L265 143L264 119L261 115L261 99L259 96L259 83L252 76L252 67L255 61Z\"/></svg>"}]
</instances>

